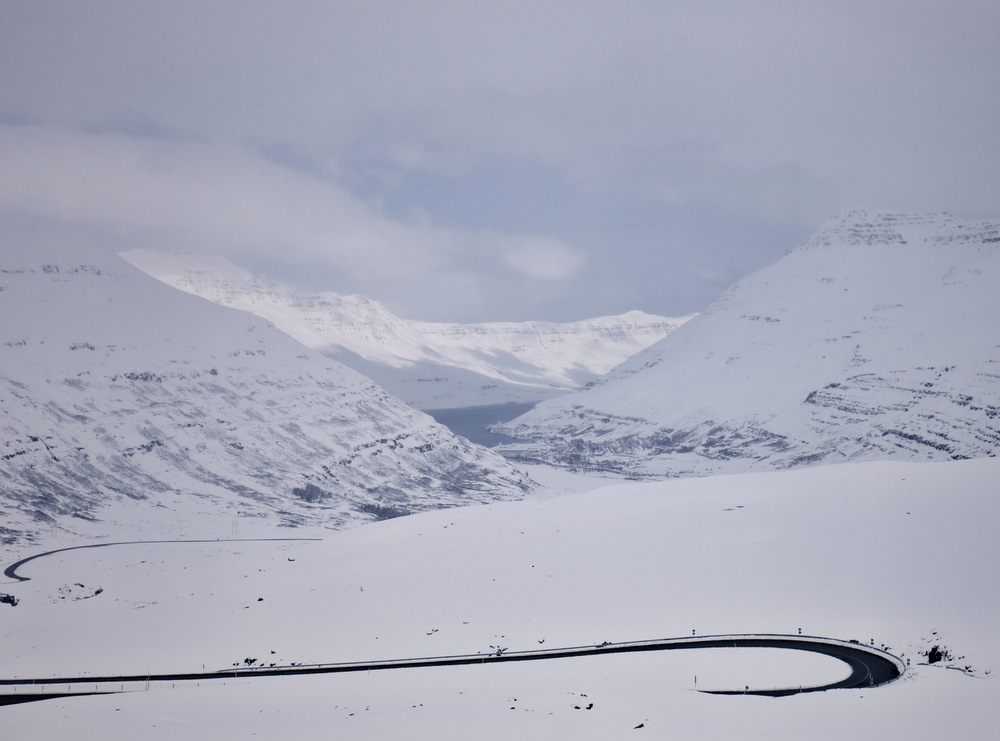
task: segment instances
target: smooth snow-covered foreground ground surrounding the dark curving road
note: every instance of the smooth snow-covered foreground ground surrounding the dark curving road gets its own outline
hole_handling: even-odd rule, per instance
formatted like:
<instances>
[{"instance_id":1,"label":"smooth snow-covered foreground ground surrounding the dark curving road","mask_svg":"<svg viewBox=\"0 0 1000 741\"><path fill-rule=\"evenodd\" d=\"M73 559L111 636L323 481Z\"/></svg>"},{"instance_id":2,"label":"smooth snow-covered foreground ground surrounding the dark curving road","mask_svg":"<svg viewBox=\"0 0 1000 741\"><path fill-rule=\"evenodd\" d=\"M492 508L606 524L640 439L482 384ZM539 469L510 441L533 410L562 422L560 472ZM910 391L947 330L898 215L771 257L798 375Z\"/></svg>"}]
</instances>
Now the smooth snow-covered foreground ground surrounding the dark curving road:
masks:
<instances>
[{"instance_id":1,"label":"smooth snow-covered foreground ground surrounding the dark curving road","mask_svg":"<svg viewBox=\"0 0 1000 741\"><path fill-rule=\"evenodd\" d=\"M0 735L981 738L1000 720L998 480L995 459L610 485L550 476L554 489L580 491L319 533L322 541L68 551L26 564L19 573L31 581L0 585L20 600L0 604L6 677L801 628L874 640L909 659L885 687L707 695L694 691L695 677L699 689L794 687L835 681L846 668L765 649L655 652L154 683L0 708ZM254 534L240 524L240 537ZM182 534L147 526L142 535ZM8 550L5 565L27 555ZM951 658L921 665L934 645Z\"/></svg>"}]
</instances>

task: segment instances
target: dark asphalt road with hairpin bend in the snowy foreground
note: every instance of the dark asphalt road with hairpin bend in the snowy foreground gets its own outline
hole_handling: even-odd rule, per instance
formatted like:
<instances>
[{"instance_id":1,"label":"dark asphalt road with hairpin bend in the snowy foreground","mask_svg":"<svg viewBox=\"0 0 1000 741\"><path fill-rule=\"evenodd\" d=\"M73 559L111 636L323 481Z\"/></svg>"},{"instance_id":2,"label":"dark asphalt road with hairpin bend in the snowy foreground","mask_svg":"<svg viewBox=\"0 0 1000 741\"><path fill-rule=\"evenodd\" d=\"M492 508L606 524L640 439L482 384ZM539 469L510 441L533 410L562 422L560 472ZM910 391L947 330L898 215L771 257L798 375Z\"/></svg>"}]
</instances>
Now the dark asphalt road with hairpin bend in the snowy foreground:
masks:
<instances>
[{"instance_id":1,"label":"dark asphalt road with hairpin bend in the snowy foreground","mask_svg":"<svg viewBox=\"0 0 1000 741\"><path fill-rule=\"evenodd\" d=\"M670 651L704 648L776 648L795 651L810 651L824 654L845 662L851 667L851 674L846 679L825 685L812 687L796 687L788 689L747 689L747 690L702 690L706 694L719 695L763 695L781 697L805 692L822 692L831 689L878 687L898 679L905 671L903 662L892 654L869 647L861 643L840 641L819 636L790 635L730 635L705 636L699 638L664 638L653 641L632 641L628 643L602 643L590 646L574 646L569 648L510 651L492 654L463 654L456 656L430 656L414 659L396 659L385 661L364 661L342 664L310 664L305 666L283 666L274 668L235 667L215 672L188 672L176 674L134 674L87 677L44 677L36 679L0 679L0 686L28 685L71 685L93 684L95 691L79 694L108 694L96 690L100 684L144 682L148 687L150 682L182 682L207 681L213 679L249 679L253 677L278 677L298 674L338 674L346 672L368 672L384 669L413 669L432 666L467 666L471 664L496 664L511 661L539 661L543 659L560 659L579 656L598 656L604 654L635 653L642 651ZM58 695L32 695L31 700L24 700L17 694L0 695L0 705L11 702L30 702L32 700L50 697L64 697L68 692Z\"/></svg>"}]
</instances>

